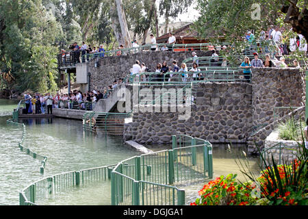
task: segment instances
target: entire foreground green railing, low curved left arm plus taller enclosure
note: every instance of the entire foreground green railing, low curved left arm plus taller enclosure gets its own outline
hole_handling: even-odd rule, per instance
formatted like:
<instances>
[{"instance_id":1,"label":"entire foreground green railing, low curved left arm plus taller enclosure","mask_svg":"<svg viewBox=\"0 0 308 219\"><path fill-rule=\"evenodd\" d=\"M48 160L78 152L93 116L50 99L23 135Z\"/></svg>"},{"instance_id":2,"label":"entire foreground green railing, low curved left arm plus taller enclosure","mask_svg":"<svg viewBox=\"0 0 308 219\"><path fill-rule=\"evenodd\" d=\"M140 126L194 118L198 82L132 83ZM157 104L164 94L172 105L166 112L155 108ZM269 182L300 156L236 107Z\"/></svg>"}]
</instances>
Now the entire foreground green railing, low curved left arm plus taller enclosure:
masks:
<instances>
[{"instance_id":1,"label":"entire foreground green railing, low curved left arm plus taller enclosure","mask_svg":"<svg viewBox=\"0 0 308 219\"><path fill-rule=\"evenodd\" d=\"M31 183L19 192L20 205L98 181L111 181L112 205L184 205L181 183L213 177L212 147L200 138L172 136L172 150L125 159L118 164L63 172Z\"/></svg>"}]
</instances>

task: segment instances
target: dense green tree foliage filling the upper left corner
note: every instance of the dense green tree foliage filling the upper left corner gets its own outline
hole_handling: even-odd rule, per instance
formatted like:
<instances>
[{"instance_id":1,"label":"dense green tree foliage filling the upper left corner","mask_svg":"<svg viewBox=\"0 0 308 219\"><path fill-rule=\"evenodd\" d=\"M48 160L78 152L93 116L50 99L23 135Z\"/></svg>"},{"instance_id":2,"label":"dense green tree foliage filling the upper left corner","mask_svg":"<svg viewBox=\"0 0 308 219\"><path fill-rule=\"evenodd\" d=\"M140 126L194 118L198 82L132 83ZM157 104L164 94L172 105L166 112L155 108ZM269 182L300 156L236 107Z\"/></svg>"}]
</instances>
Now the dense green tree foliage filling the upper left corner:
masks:
<instances>
[{"instance_id":1,"label":"dense green tree foliage filling the upper left corner","mask_svg":"<svg viewBox=\"0 0 308 219\"><path fill-rule=\"evenodd\" d=\"M56 42L63 31L53 14L40 0L1 1L0 14L0 67L14 78L8 86L21 92L56 89L49 75L57 76Z\"/></svg>"}]
</instances>

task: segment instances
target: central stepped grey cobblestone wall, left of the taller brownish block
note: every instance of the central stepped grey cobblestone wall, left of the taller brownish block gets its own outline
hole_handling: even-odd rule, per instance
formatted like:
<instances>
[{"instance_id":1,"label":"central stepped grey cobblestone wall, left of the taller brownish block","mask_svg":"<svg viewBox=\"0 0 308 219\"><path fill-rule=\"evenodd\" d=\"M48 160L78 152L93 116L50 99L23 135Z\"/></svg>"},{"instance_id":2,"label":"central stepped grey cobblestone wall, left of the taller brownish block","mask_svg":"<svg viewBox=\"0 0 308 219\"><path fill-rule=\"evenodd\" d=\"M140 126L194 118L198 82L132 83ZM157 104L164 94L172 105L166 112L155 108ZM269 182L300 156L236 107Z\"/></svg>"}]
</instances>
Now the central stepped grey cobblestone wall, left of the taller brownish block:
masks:
<instances>
[{"instance_id":1,"label":"central stepped grey cobblestone wall, left of the taller brownish block","mask_svg":"<svg viewBox=\"0 0 308 219\"><path fill-rule=\"evenodd\" d=\"M196 104L188 120L179 112L134 112L125 138L144 143L171 142L176 133L209 142L246 142L251 131L252 89L249 83L198 83Z\"/></svg>"}]
</instances>

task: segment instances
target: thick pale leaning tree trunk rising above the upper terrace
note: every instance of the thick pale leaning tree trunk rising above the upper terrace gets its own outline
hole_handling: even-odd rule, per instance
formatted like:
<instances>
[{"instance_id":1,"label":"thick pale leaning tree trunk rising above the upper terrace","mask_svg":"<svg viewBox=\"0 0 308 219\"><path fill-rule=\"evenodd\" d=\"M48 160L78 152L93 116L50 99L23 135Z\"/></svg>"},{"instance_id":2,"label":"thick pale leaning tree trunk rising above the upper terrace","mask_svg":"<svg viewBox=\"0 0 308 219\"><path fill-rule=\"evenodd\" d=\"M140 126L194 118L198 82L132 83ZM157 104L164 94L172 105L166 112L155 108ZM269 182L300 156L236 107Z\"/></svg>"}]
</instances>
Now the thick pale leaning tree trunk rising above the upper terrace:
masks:
<instances>
[{"instance_id":1,"label":"thick pale leaning tree trunk rising above the upper terrace","mask_svg":"<svg viewBox=\"0 0 308 219\"><path fill-rule=\"evenodd\" d=\"M127 27L127 22L125 18L125 12L123 10L122 0L116 0L116 10L118 12L118 21L120 23L120 30L123 36L123 46L126 48L131 47L131 36L129 35L129 30Z\"/></svg>"}]
</instances>

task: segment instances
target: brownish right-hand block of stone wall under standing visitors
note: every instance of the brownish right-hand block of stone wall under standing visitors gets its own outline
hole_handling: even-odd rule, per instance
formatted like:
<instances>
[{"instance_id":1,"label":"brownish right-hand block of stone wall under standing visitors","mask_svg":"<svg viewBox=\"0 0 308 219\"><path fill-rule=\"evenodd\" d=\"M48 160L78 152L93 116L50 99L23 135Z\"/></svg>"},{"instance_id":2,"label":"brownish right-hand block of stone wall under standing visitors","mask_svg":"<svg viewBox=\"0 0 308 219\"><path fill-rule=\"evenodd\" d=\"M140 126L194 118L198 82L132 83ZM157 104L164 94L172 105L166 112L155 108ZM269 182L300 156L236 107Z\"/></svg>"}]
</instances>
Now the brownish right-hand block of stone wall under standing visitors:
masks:
<instances>
[{"instance_id":1,"label":"brownish right-hand block of stone wall under standing visitors","mask_svg":"<svg viewBox=\"0 0 308 219\"><path fill-rule=\"evenodd\" d=\"M254 68L253 125L274 121L274 107L305 105L305 75L296 68ZM290 109L275 109L277 118Z\"/></svg>"}]
</instances>

